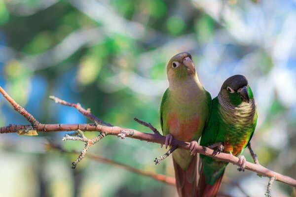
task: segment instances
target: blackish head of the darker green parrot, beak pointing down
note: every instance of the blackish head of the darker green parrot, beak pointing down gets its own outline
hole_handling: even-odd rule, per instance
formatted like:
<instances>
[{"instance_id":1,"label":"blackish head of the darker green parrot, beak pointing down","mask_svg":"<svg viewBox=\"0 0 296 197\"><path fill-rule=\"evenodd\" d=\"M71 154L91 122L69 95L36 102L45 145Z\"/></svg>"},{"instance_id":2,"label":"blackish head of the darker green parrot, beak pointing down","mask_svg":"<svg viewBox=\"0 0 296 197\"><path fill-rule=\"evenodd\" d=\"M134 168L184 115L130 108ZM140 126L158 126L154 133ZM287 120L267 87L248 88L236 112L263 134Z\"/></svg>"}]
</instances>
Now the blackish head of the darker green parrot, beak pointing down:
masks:
<instances>
[{"instance_id":1,"label":"blackish head of the darker green parrot, beak pointing down","mask_svg":"<svg viewBox=\"0 0 296 197\"><path fill-rule=\"evenodd\" d=\"M248 84L248 80L243 75L233 75L226 79L219 93L223 99L232 105L239 105L242 102L249 103L253 99L252 90Z\"/></svg>"}]
</instances>

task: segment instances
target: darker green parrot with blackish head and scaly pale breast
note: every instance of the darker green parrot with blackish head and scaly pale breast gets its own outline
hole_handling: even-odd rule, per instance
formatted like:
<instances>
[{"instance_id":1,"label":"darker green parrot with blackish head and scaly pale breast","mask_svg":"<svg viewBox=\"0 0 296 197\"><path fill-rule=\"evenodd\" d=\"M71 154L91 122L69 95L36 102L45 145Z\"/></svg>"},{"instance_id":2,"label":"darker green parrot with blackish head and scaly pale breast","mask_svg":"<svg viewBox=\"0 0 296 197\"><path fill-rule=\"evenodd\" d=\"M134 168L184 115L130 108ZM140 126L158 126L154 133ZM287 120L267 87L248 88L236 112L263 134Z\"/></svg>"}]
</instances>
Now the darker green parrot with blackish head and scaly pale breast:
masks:
<instances>
[{"instance_id":1,"label":"darker green parrot with blackish head and scaly pale breast","mask_svg":"<svg viewBox=\"0 0 296 197\"><path fill-rule=\"evenodd\" d=\"M218 97L212 100L210 120L200 145L238 156L238 170L242 171L246 159L241 154L252 138L256 123L256 102L248 80L243 75L231 76L224 81ZM228 163L204 155L200 155L200 160L200 197L215 197Z\"/></svg>"}]
</instances>

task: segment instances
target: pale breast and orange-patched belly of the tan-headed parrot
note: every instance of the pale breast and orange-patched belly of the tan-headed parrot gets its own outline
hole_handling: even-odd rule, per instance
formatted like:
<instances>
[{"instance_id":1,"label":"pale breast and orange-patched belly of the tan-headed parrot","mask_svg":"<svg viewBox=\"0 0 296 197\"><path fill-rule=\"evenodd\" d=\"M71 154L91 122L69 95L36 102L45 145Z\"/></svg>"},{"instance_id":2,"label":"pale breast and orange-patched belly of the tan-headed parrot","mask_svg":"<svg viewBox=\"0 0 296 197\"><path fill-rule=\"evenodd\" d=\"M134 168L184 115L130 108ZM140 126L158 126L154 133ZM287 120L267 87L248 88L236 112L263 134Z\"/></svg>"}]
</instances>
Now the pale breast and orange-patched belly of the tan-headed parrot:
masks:
<instances>
[{"instance_id":1,"label":"pale breast and orange-patched belly of the tan-headed parrot","mask_svg":"<svg viewBox=\"0 0 296 197\"><path fill-rule=\"evenodd\" d=\"M164 128L181 141L198 140L209 115L207 94L196 79L170 84L170 96L164 103Z\"/></svg>"}]
</instances>

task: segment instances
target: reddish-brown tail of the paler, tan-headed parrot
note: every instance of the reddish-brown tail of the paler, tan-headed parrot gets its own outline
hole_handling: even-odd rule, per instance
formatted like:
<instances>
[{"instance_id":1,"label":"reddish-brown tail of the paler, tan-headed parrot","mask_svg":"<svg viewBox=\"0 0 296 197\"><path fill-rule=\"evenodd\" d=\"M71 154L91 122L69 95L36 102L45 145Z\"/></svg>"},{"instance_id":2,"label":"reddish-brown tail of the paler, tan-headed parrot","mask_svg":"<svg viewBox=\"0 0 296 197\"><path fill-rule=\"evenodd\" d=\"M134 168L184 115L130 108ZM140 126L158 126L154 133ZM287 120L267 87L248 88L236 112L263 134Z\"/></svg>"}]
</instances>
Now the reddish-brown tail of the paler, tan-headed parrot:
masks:
<instances>
[{"instance_id":1,"label":"reddish-brown tail of the paler, tan-headed parrot","mask_svg":"<svg viewBox=\"0 0 296 197\"><path fill-rule=\"evenodd\" d=\"M173 158L176 186L179 197L197 197L197 154L186 170L183 170Z\"/></svg>"}]
</instances>

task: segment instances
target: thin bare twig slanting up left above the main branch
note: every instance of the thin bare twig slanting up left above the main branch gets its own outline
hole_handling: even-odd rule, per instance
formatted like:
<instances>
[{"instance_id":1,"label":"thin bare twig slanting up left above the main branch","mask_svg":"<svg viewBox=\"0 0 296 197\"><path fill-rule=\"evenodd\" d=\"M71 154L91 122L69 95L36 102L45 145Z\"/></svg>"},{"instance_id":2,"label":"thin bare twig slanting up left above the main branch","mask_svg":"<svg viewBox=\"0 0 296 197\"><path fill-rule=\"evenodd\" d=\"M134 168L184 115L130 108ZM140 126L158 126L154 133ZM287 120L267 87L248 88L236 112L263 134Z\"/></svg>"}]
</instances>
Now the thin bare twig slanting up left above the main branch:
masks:
<instances>
[{"instance_id":1,"label":"thin bare twig slanting up left above the main branch","mask_svg":"<svg viewBox=\"0 0 296 197\"><path fill-rule=\"evenodd\" d=\"M59 103L59 104L62 104L62 105L74 107L83 116L89 118L92 121L95 121L96 123L99 123L100 125L105 125L105 126L112 127L112 125L110 123L105 123L101 119L97 118L96 116L94 116L93 114L90 113L90 109L87 109L87 110L84 109L79 103L67 102L66 100L62 100L62 99L59 99L59 98L54 97L54 96L49 96L49 99L52 99L55 103Z\"/></svg>"}]
</instances>

